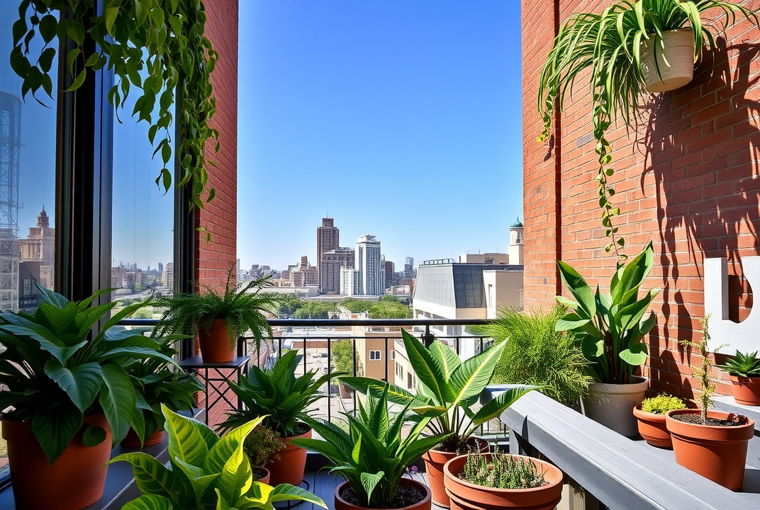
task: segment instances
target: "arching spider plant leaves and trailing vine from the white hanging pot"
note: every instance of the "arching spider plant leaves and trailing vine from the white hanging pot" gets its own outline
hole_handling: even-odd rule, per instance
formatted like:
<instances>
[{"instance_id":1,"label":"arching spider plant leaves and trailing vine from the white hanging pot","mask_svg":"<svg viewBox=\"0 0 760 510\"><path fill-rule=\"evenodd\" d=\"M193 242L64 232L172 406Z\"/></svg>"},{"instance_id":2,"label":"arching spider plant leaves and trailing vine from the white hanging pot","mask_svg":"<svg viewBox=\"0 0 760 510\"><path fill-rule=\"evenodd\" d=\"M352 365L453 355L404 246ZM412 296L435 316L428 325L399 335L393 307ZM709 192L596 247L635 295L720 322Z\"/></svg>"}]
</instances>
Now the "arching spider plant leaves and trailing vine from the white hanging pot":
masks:
<instances>
[{"instance_id":1,"label":"arching spider plant leaves and trailing vine from the white hanging pot","mask_svg":"<svg viewBox=\"0 0 760 510\"><path fill-rule=\"evenodd\" d=\"M722 29L702 24L704 11L722 10ZM755 13L743 6L719 0L619 0L602 14L571 14L562 24L554 46L546 56L538 86L538 111L543 117L543 142L549 137L555 107L562 111L565 96L576 77L588 79L591 88L591 118L595 150L598 157L597 185L602 225L610 238L606 251L615 250L619 260L625 254L625 240L617 236L613 219L620 214L611 197L615 190L609 183L614 174L610 167L612 147L605 133L610 125L622 120L629 130L640 121L639 105L647 94L641 70L641 42L664 47L663 32L691 28L694 35L694 61L699 61L705 44L715 49L713 34L726 30L735 21L736 13L758 25ZM587 72L590 69L591 72Z\"/></svg>"}]
</instances>

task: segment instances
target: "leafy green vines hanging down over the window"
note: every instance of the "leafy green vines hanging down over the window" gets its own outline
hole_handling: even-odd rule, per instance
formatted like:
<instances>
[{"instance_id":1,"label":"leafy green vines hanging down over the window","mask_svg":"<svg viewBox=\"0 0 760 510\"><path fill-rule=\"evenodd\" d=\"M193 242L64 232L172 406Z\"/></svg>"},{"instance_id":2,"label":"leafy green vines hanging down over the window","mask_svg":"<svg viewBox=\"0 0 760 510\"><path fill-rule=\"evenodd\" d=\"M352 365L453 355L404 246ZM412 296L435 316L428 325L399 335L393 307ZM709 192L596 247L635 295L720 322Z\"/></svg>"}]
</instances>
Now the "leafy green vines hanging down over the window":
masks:
<instances>
[{"instance_id":1,"label":"leafy green vines hanging down over the window","mask_svg":"<svg viewBox=\"0 0 760 510\"><path fill-rule=\"evenodd\" d=\"M172 185L166 165L172 159L172 105L176 105L180 137L177 146L179 165L177 185L192 186L191 207L203 209L204 201L214 199L216 191L207 190L207 140L219 151L219 133L208 125L216 111L209 77L218 54L204 35L206 13L201 0L104 0L101 14L95 14L95 0L21 0L18 20L13 25L14 48L11 67L23 80L21 96L31 93L42 103L40 90L52 99L50 69L58 42L73 42L67 65L77 90L87 73L107 68L115 84L108 100L123 110L130 93L140 94L131 112L146 121L148 140L154 157L163 161L156 184L164 193ZM85 39L96 44L94 52L85 49ZM30 52L30 43L41 39L39 52ZM84 65L81 65L84 63ZM76 74L74 76L74 74ZM44 104L44 103L42 103ZM202 197L205 195L205 200Z\"/></svg>"}]
</instances>

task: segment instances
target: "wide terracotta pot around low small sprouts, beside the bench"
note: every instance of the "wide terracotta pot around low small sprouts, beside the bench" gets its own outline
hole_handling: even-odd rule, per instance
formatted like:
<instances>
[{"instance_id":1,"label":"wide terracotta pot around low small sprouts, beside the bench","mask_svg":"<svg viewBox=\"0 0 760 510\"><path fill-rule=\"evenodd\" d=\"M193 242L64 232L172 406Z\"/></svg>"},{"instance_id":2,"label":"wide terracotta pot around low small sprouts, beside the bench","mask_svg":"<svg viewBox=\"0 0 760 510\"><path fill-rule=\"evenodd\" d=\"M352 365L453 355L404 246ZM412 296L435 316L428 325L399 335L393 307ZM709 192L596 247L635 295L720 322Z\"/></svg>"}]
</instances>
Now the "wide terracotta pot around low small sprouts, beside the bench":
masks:
<instances>
[{"instance_id":1,"label":"wide terracotta pot around low small sprouts, beside the bench","mask_svg":"<svg viewBox=\"0 0 760 510\"><path fill-rule=\"evenodd\" d=\"M543 472L546 485L533 489L494 489L461 480L461 473L469 455L452 458L444 466L446 493L451 498L451 510L552 510L562 499L562 471L537 458L515 455L530 461ZM490 458L491 454L486 456Z\"/></svg>"}]
</instances>

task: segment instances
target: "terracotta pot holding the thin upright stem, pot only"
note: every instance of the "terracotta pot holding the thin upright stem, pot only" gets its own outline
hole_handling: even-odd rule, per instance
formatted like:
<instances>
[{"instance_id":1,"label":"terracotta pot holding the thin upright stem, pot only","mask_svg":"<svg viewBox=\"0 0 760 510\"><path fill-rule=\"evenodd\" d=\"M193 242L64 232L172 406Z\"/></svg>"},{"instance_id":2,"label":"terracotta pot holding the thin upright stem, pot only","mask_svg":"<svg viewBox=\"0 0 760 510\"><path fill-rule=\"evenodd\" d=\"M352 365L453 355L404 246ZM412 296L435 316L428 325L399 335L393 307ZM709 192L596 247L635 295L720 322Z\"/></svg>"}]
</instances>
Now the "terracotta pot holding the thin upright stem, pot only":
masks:
<instances>
[{"instance_id":1,"label":"terracotta pot holding the thin upright stem, pot only","mask_svg":"<svg viewBox=\"0 0 760 510\"><path fill-rule=\"evenodd\" d=\"M667 430L673 437L676 462L730 490L740 490L744 481L747 442L755 436L755 422L736 427L716 427L686 423L677 414L699 414L698 409L677 409L666 415ZM727 420L736 417L723 411L708 411L708 417Z\"/></svg>"}]
</instances>

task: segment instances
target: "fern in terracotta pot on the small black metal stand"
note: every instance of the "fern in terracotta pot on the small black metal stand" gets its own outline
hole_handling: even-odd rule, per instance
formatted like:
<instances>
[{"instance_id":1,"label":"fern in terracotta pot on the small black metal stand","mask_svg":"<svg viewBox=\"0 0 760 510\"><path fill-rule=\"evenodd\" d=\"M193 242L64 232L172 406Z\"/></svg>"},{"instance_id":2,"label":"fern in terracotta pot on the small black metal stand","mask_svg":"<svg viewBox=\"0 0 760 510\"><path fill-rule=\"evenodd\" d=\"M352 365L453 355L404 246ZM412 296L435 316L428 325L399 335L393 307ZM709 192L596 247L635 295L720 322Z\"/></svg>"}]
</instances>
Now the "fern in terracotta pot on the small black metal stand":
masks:
<instances>
[{"instance_id":1,"label":"fern in terracotta pot on the small black metal stand","mask_svg":"<svg viewBox=\"0 0 760 510\"><path fill-rule=\"evenodd\" d=\"M201 288L192 294L178 293L156 298L163 307L156 335L197 333L204 363L230 363L237 354L237 339L250 331L257 342L272 329L264 313L273 313L276 298L264 294L269 277L236 285L232 268L227 272L222 294L212 288Z\"/></svg>"}]
</instances>

